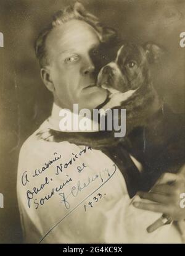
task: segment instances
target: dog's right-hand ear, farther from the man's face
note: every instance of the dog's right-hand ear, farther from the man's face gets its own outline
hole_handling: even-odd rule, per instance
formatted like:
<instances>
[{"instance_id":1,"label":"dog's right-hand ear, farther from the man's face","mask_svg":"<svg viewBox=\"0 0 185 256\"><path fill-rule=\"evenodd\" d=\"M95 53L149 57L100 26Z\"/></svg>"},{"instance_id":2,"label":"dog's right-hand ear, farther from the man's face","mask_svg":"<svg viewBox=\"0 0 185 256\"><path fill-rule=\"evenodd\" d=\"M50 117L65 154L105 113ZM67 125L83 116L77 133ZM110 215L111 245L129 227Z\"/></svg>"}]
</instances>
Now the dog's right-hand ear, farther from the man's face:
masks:
<instances>
[{"instance_id":1,"label":"dog's right-hand ear, farther from the man's face","mask_svg":"<svg viewBox=\"0 0 185 256\"><path fill-rule=\"evenodd\" d=\"M150 64L160 61L164 54L164 50L162 48L152 43L148 43L147 45L145 45L144 49L146 51L147 59Z\"/></svg>"}]
</instances>

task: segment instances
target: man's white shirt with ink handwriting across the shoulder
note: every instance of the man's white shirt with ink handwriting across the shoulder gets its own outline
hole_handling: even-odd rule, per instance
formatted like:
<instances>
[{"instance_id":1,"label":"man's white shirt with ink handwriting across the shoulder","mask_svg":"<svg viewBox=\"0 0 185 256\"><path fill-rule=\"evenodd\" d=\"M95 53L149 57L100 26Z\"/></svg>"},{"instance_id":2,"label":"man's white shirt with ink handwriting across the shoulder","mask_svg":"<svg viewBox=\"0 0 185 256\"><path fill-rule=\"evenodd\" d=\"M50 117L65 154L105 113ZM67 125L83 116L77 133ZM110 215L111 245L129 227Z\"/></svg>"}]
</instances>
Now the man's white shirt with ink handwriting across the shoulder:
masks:
<instances>
[{"instance_id":1,"label":"man's white shirt with ink handwriting across the shoulder","mask_svg":"<svg viewBox=\"0 0 185 256\"><path fill-rule=\"evenodd\" d=\"M161 213L133 207L125 179L102 151L38 138L42 129L59 130L59 111L54 105L20 150L17 197L25 242L181 243L173 224L147 233Z\"/></svg>"}]
</instances>

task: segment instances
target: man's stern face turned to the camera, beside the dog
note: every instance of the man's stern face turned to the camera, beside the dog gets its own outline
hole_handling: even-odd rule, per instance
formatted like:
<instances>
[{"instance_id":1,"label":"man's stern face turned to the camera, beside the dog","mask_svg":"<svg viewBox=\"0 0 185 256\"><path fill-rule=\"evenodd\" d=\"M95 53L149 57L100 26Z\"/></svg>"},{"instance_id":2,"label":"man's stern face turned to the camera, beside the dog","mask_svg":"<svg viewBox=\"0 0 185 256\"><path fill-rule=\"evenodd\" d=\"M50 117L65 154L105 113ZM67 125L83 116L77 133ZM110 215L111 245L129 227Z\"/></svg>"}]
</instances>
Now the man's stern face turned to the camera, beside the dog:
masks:
<instances>
[{"instance_id":1,"label":"man's stern face turned to the camera, beside the dog","mask_svg":"<svg viewBox=\"0 0 185 256\"><path fill-rule=\"evenodd\" d=\"M93 109L107 98L107 91L96 86L89 56L99 43L94 29L81 20L70 20L49 34L46 47L50 79L55 103L60 107L73 109L73 104L78 103L79 109Z\"/></svg>"}]
</instances>

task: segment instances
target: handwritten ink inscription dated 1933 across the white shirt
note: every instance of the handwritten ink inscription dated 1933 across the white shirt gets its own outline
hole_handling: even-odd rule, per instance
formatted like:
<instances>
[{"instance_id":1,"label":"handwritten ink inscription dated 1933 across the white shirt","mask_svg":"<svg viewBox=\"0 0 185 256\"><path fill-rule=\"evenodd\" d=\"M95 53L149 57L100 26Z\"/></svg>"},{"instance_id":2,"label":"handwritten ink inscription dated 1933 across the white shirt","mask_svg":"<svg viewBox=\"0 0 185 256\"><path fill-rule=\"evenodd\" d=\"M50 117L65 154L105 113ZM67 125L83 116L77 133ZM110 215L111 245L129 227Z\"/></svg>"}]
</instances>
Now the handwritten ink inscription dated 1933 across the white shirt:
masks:
<instances>
[{"instance_id":1,"label":"handwritten ink inscription dated 1933 across the white shirt","mask_svg":"<svg viewBox=\"0 0 185 256\"><path fill-rule=\"evenodd\" d=\"M32 172L23 171L21 182L25 187L29 208L38 210L47 203L48 207L56 205L59 210L61 205L61 218L44 237L80 205L84 203L86 211L87 208L95 207L105 196L105 193L102 194L98 190L115 174L117 167L113 164L108 166L109 168L98 170L97 164L97 173L93 173L92 166L89 167L86 163L89 155L82 157L87 152L93 153L91 147L84 146L77 153L72 153L69 158L63 158L62 154L54 152L54 157L41 164L41 167ZM91 198L89 202L88 198ZM50 200L51 203L48 204Z\"/></svg>"}]
</instances>

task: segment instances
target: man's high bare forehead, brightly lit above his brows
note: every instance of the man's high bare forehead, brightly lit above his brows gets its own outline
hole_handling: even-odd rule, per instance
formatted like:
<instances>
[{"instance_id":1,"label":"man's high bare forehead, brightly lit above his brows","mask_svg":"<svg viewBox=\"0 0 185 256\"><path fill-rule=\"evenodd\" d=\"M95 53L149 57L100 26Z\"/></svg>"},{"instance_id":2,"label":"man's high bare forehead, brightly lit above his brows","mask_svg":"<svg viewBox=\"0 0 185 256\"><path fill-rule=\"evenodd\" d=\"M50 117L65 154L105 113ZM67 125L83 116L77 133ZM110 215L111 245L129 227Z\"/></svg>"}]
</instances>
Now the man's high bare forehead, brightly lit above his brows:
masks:
<instances>
[{"instance_id":1,"label":"man's high bare forehead, brightly lit above his brows","mask_svg":"<svg viewBox=\"0 0 185 256\"><path fill-rule=\"evenodd\" d=\"M46 40L49 50L57 49L57 51L88 48L98 43L96 30L81 20L70 20L53 28Z\"/></svg>"}]
</instances>

